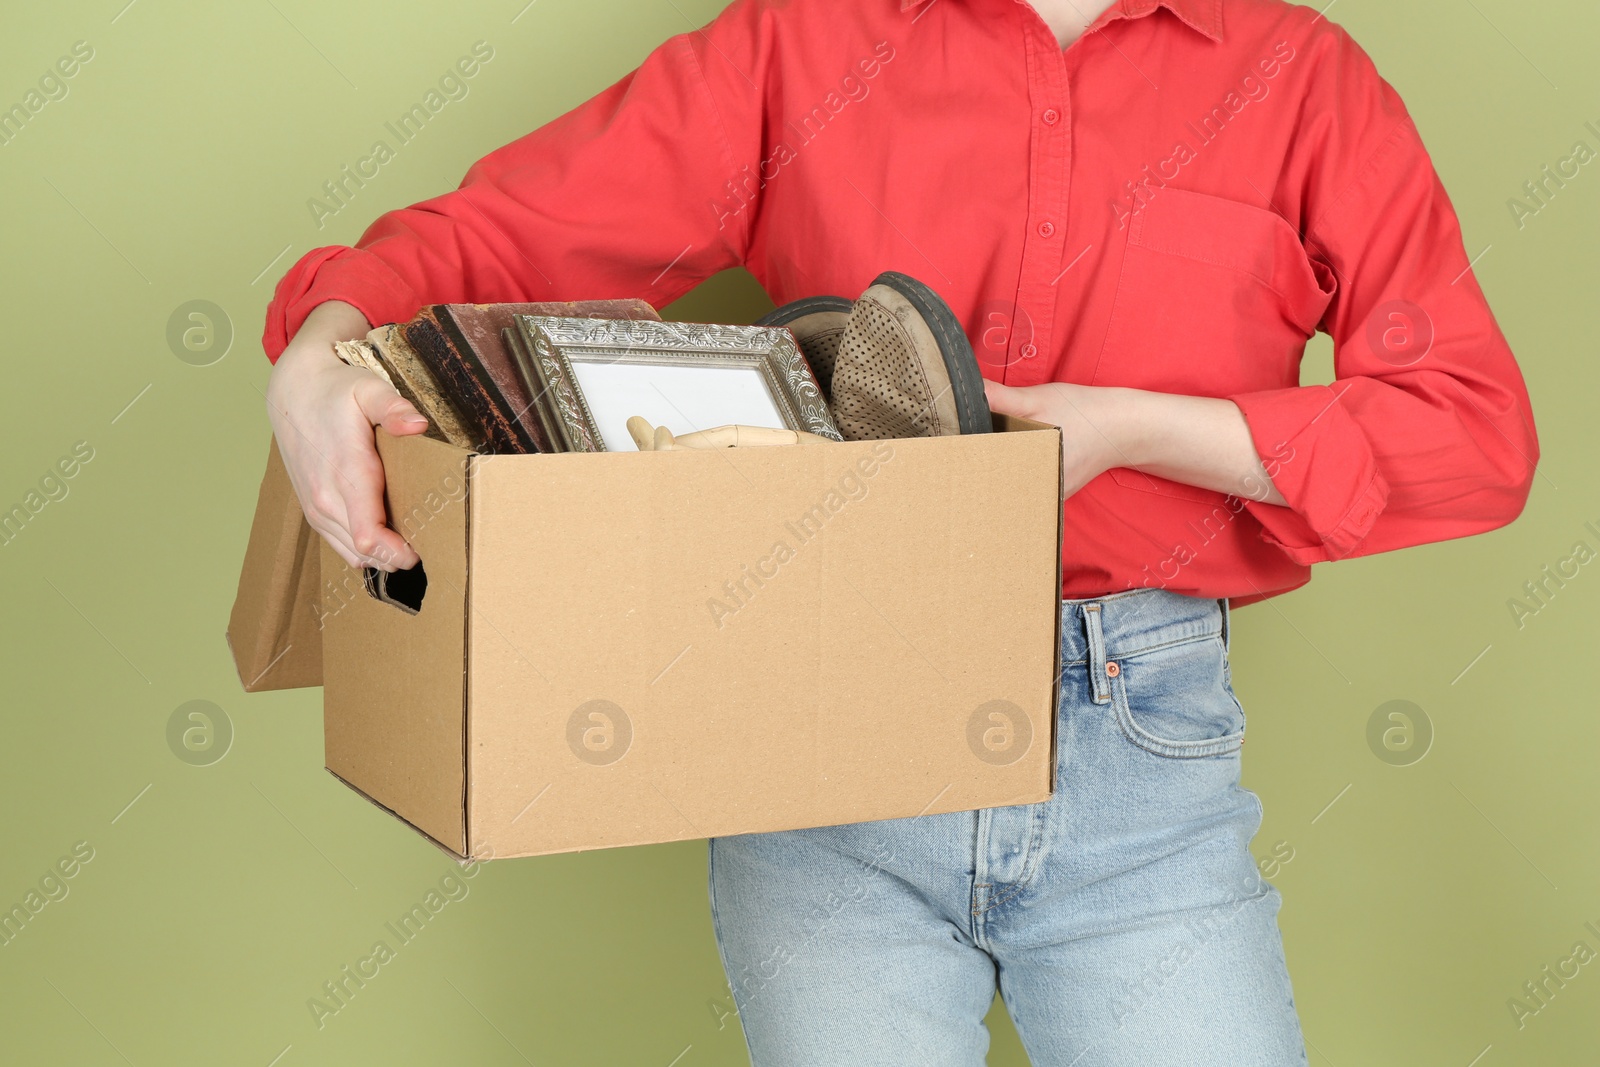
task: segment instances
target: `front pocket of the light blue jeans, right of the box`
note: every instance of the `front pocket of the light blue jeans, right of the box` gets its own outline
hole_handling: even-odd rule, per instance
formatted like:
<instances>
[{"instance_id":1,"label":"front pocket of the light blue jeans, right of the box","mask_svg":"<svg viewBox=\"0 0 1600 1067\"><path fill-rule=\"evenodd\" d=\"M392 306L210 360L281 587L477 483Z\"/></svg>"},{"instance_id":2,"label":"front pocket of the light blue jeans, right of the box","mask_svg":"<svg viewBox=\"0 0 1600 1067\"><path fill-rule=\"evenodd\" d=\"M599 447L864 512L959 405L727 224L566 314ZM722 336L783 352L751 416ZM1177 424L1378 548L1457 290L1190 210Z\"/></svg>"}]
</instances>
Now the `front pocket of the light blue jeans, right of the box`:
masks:
<instances>
[{"instance_id":1,"label":"front pocket of the light blue jeans, right of the box","mask_svg":"<svg viewBox=\"0 0 1600 1067\"><path fill-rule=\"evenodd\" d=\"M1221 633L1115 661L1110 702L1134 745L1158 757L1226 757L1245 744L1245 709L1227 681Z\"/></svg>"}]
</instances>

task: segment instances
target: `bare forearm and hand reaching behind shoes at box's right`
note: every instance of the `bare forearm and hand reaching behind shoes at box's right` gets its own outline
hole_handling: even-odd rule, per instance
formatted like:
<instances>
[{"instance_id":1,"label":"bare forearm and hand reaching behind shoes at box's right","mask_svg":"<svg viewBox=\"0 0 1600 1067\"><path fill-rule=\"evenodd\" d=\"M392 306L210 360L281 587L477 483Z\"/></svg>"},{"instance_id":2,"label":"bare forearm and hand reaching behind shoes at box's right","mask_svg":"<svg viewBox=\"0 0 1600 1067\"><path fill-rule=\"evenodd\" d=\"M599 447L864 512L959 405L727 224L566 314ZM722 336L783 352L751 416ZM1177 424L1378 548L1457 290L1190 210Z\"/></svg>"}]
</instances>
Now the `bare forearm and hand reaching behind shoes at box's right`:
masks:
<instances>
[{"instance_id":1,"label":"bare forearm and hand reaching behind shoes at box's right","mask_svg":"<svg viewBox=\"0 0 1600 1067\"><path fill-rule=\"evenodd\" d=\"M984 392L994 411L1061 427L1069 496L1112 467L1130 467L1264 504L1285 502L1230 400L1067 382L1018 389L986 381Z\"/></svg>"}]
</instances>

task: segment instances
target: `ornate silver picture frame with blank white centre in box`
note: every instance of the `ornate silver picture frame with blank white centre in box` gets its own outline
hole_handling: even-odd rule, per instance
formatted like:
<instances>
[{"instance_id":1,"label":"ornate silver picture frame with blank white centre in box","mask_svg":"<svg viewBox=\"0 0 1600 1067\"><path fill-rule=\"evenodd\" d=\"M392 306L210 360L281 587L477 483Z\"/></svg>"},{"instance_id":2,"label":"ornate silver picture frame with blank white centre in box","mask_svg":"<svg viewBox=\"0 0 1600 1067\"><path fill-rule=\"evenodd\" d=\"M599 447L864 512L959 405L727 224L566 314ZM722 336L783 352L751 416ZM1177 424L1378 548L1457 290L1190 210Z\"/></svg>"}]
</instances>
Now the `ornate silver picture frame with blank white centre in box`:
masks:
<instances>
[{"instance_id":1,"label":"ornate silver picture frame with blank white centre in box","mask_svg":"<svg viewBox=\"0 0 1600 1067\"><path fill-rule=\"evenodd\" d=\"M634 451L635 414L674 434L739 424L840 440L787 330L517 315L507 341L565 451Z\"/></svg>"}]
</instances>

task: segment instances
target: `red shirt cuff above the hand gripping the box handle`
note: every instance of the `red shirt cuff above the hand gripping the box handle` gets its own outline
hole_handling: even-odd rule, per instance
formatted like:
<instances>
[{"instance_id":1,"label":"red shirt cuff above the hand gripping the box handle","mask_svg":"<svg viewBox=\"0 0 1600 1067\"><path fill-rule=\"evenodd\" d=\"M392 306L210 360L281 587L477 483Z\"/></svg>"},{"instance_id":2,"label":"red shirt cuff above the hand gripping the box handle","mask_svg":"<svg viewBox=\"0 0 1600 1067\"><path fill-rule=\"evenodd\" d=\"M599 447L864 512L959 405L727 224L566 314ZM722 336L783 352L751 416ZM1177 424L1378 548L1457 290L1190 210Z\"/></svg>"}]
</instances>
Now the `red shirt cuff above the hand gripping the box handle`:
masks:
<instances>
[{"instance_id":1,"label":"red shirt cuff above the hand gripping the box handle","mask_svg":"<svg viewBox=\"0 0 1600 1067\"><path fill-rule=\"evenodd\" d=\"M389 264L362 248L314 248L290 267L267 306L261 347L274 363L317 304L344 301L374 326L406 322L422 306Z\"/></svg>"}]
</instances>

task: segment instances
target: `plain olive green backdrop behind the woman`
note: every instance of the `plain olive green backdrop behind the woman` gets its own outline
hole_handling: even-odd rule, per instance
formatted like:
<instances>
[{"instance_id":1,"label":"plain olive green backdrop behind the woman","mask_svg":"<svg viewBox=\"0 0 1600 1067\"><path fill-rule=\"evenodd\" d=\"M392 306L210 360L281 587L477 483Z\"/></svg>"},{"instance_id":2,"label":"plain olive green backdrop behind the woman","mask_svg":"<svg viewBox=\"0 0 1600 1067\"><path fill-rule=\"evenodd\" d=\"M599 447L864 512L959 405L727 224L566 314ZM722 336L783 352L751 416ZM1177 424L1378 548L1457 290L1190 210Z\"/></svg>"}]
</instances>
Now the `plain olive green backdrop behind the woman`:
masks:
<instances>
[{"instance_id":1,"label":"plain olive green backdrop behind the woman","mask_svg":"<svg viewBox=\"0 0 1600 1067\"><path fill-rule=\"evenodd\" d=\"M717 0L125 2L6 5L0 37L0 106L74 42L94 48L69 96L0 147L0 509L75 442L94 450L0 547L0 907L74 843L94 849L0 947L0 1059L746 1062L704 841L490 864L318 1029L307 998L451 865L322 769L318 691L243 694L222 641L267 442L258 339L275 280L453 187ZM1509 530L1322 566L1235 616L1246 782L1267 811L1256 851L1293 854L1267 873L1314 1064L1597 1062L1600 965L1520 1029L1507 998L1579 939L1600 949L1584 929L1600 926L1600 573L1520 629L1507 600L1576 541L1600 549L1584 528L1600 526L1600 163L1520 230L1506 202L1574 141L1600 147L1584 130L1600 125L1600 16L1342 0L1330 18L1410 102L1469 254L1490 246L1477 272L1544 461ZM306 200L477 40L494 59L470 94L315 229ZM192 299L234 330L208 366L166 341ZM766 307L736 274L670 314ZM1309 374L1328 365L1317 346ZM234 729L210 766L168 747L194 699ZM1405 766L1368 745L1394 699L1434 731ZM1002 1009L990 1024L990 1062L1024 1064Z\"/></svg>"}]
</instances>

